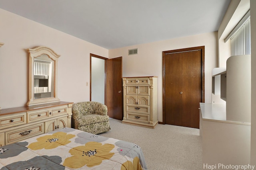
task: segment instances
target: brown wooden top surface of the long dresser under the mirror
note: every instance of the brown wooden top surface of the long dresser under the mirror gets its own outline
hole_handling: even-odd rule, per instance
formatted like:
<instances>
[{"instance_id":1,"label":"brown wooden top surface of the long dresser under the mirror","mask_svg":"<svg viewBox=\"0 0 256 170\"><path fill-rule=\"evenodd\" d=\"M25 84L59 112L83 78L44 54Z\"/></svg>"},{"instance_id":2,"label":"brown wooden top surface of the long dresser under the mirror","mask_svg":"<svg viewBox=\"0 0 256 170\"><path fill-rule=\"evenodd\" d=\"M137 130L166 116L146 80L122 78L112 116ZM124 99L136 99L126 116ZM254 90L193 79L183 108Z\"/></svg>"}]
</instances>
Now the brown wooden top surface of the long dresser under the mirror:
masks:
<instances>
[{"instance_id":1,"label":"brown wooden top surface of the long dresser under the mirror","mask_svg":"<svg viewBox=\"0 0 256 170\"><path fill-rule=\"evenodd\" d=\"M57 106L63 106L73 104L73 102L54 102L50 104L39 104L35 106L21 106L21 107L13 107L8 109L2 109L0 110L0 116L1 115L9 115L14 113L21 113L26 111L32 111L32 110L38 110L38 109L46 109L50 107L57 107Z\"/></svg>"}]
</instances>

